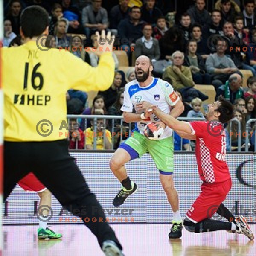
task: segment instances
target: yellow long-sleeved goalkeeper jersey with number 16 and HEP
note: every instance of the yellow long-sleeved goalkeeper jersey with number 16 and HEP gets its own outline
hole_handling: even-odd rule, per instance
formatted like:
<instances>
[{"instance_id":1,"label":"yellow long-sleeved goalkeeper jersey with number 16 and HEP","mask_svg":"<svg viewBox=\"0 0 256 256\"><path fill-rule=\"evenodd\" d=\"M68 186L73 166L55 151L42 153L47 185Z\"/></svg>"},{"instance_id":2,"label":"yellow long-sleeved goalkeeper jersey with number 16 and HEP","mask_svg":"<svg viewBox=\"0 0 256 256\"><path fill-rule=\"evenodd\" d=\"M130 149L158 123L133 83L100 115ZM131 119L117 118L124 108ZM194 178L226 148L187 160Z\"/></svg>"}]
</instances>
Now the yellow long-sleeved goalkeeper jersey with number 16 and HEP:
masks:
<instances>
[{"instance_id":1,"label":"yellow long-sleeved goalkeeper jersey with number 16 and HEP","mask_svg":"<svg viewBox=\"0 0 256 256\"><path fill-rule=\"evenodd\" d=\"M98 67L59 49L42 51L34 41L1 48L4 140L52 141L67 137L66 92L107 90L114 79L110 52Z\"/></svg>"}]
</instances>

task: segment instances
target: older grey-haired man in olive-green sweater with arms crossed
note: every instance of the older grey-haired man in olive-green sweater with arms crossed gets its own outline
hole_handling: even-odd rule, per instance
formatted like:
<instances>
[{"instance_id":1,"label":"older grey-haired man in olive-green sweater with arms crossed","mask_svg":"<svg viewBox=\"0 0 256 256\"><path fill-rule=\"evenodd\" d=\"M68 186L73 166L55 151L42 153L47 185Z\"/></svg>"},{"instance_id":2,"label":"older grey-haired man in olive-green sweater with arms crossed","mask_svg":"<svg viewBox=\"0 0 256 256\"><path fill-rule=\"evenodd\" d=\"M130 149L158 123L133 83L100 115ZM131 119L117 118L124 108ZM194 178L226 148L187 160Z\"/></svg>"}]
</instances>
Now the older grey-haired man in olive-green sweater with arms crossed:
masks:
<instances>
[{"instance_id":1,"label":"older grey-haired man in olive-green sweater with arms crossed","mask_svg":"<svg viewBox=\"0 0 256 256\"><path fill-rule=\"evenodd\" d=\"M175 90L195 85L190 68L183 66L183 62L184 54L180 51L174 52L172 54L172 66L167 67L163 73L163 79L172 79L172 86Z\"/></svg>"}]
</instances>

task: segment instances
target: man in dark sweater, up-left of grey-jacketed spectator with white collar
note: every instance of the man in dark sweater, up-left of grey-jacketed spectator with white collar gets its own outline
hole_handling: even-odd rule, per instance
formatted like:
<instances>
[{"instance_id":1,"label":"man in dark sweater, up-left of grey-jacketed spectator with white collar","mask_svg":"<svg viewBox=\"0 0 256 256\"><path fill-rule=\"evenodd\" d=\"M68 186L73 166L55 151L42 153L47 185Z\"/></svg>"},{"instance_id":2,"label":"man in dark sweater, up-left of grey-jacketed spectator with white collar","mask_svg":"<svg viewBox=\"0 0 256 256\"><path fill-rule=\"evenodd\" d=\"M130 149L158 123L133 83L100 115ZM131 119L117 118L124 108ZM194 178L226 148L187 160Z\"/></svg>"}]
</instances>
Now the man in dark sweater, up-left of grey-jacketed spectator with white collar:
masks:
<instances>
[{"instance_id":1,"label":"man in dark sweater, up-left of grey-jacketed spectator with white collar","mask_svg":"<svg viewBox=\"0 0 256 256\"><path fill-rule=\"evenodd\" d=\"M134 47L137 39L143 36L142 29L144 21L140 20L141 11L138 6L133 6L129 12L130 18L121 20L118 25L118 34L122 47ZM131 50L131 49L130 49ZM128 55L130 51L127 52Z\"/></svg>"}]
</instances>

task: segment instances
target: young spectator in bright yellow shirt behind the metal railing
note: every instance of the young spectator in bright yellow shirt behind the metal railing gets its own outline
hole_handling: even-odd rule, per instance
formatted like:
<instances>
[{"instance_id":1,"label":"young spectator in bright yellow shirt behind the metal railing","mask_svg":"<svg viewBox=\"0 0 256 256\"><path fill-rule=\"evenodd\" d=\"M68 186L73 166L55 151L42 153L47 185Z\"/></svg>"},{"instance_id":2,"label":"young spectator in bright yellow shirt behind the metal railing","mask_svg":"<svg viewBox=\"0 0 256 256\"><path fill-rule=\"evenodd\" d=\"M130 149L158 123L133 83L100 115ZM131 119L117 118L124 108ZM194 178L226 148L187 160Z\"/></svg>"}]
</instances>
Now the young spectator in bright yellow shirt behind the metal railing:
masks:
<instances>
[{"instance_id":1,"label":"young spectator in bright yellow shirt behind the metal railing","mask_svg":"<svg viewBox=\"0 0 256 256\"><path fill-rule=\"evenodd\" d=\"M96 115L102 115L95 112ZM94 128L96 125L96 133ZM94 137L96 137L96 150L104 150L112 148L111 132L105 129L104 119L97 119L97 123L91 122L91 127L84 131L86 149L93 150Z\"/></svg>"}]
</instances>

